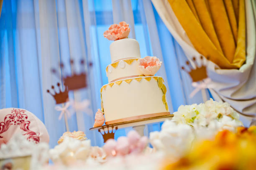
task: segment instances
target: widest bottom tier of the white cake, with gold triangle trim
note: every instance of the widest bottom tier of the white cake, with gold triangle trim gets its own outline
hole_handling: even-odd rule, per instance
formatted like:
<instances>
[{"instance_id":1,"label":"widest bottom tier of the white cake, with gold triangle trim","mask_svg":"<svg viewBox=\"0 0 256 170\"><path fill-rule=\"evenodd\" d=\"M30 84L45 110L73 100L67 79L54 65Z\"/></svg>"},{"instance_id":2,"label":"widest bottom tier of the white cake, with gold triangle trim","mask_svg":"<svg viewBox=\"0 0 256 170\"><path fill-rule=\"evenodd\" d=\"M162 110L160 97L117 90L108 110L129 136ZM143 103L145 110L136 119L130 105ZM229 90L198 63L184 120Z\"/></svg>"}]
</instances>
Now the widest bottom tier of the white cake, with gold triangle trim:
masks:
<instances>
[{"instance_id":1,"label":"widest bottom tier of the white cake, with gold triangle trim","mask_svg":"<svg viewBox=\"0 0 256 170\"><path fill-rule=\"evenodd\" d=\"M162 77L140 76L102 86L102 112L106 124L168 115Z\"/></svg>"}]
</instances>

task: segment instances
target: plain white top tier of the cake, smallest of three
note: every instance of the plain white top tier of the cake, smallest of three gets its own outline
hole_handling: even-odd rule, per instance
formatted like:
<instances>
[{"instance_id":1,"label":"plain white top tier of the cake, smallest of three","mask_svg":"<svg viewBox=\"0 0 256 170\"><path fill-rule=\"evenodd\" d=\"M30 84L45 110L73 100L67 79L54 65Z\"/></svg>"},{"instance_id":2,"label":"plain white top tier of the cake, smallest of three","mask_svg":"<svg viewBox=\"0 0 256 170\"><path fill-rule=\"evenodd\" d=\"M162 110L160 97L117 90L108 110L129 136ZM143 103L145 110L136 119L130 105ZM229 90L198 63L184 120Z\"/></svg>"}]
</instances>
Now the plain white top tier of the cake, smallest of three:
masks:
<instances>
[{"instance_id":1,"label":"plain white top tier of the cake, smallest of three","mask_svg":"<svg viewBox=\"0 0 256 170\"><path fill-rule=\"evenodd\" d=\"M131 38L124 38L110 44L111 62L124 58L141 58L138 41Z\"/></svg>"}]
</instances>

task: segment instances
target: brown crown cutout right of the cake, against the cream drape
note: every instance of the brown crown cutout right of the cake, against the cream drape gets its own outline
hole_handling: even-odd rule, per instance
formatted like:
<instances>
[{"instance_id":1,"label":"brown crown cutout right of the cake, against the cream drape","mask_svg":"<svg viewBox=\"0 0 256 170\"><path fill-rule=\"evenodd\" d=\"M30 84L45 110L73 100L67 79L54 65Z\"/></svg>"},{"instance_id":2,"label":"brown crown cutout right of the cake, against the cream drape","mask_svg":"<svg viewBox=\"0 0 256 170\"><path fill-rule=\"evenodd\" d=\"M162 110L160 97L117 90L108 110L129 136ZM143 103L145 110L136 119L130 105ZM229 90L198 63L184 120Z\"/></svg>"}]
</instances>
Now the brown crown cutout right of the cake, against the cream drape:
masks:
<instances>
[{"instance_id":1,"label":"brown crown cutout right of the cake, against the cream drape","mask_svg":"<svg viewBox=\"0 0 256 170\"><path fill-rule=\"evenodd\" d=\"M196 61L195 57L193 57L192 59L193 61ZM187 66L189 66L190 71L186 70L184 66L182 66L182 70L186 71L190 75L193 82L202 81L203 79L206 79L208 77L206 66L203 64L203 56L200 56L200 59L201 59L201 66L199 67L195 62L195 65L196 65L195 69L193 69L190 66L189 61L186 61L186 64Z\"/></svg>"}]
</instances>

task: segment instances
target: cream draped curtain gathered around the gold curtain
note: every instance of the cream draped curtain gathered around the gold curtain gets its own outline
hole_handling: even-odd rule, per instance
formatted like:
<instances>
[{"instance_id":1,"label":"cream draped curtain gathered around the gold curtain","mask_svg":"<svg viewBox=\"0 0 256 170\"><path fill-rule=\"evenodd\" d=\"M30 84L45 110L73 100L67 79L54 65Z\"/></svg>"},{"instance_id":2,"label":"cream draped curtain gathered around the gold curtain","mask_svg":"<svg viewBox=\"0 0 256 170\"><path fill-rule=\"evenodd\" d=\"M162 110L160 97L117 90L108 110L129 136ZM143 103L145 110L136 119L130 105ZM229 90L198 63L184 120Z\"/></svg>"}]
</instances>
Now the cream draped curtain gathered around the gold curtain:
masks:
<instances>
[{"instance_id":1,"label":"cream draped curtain gathered around the gold curtain","mask_svg":"<svg viewBox=\"0 0 256 170\"><path fill-rule=\"evenodd\" d=\"M152 0L152 2L166 27L184 50L187 58L192 61L192 57L201 56L202 54L192 45L170 6L171 2L177 4L180 2L177 0ZM185 2L193 3L193 1ZM197 1L197 3L200 2ZM214 99L230 103L241 114L244 125L248 126L251 119L255 119L256 116L256 3L254 0L245 0L245 11L246 62L240 69L220 69L215 63L209 61L207 70L208 76L212 79L213 88L210 89L210 92Z\"/></svg>"}]
</instances>

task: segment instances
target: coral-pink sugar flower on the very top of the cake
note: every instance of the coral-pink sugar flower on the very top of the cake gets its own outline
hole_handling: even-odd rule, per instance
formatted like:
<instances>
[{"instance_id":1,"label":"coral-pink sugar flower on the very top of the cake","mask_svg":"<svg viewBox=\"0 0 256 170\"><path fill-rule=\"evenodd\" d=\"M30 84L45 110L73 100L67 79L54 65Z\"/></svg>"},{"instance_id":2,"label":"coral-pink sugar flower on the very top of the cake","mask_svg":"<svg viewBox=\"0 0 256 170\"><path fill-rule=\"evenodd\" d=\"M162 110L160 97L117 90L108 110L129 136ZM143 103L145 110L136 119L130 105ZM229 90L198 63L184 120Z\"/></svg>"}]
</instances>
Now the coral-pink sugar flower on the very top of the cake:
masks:
<instances>
[{"instance_id":1,"label":"coral-pink sugar flower on the very top of the cake","mask_svg":"<svg viewBox=\"0 0 256 170\"><path fill-rule=\"evenodd\" d=\"M110 25L108 30L103 33L103 36L108 40L120 40L123 38L127 38L130 33L129 24L125 23L125 21L120 22L119 24Z\"/></svg>"}]
</instances>

